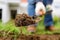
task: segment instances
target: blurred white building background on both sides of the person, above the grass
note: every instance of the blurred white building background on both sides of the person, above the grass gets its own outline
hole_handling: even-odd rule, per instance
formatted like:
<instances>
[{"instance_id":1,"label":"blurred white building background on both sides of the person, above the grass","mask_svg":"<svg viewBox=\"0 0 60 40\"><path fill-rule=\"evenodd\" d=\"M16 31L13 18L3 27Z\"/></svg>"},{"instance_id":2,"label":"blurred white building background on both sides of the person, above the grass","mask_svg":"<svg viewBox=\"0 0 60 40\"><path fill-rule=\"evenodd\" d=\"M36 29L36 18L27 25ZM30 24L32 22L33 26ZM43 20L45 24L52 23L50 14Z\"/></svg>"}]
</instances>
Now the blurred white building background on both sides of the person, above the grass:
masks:
<instances>
[{"instance_id":1,"label":"blurred white building background on both sides of the person, above the grass","mask_svg":"<svg viewBox=\"0 0 60 40\"><path fill-rule=\"evenodd\" d=\"M16 14L27 13L27 0L0 0L0 19L3 23L14 19ZM60 1L54 0L52 4L52 16L60 18Z\"/></svg>"}]
</instances>

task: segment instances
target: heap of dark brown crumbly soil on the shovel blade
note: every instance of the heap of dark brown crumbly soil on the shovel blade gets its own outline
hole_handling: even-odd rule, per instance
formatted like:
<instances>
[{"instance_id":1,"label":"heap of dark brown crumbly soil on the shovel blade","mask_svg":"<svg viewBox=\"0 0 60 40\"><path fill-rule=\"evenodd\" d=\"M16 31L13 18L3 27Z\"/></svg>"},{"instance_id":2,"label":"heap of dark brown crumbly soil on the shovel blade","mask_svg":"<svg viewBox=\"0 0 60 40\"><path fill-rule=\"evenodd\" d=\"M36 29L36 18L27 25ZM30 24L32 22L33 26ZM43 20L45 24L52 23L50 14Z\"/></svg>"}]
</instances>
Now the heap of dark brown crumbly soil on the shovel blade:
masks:
<instances>
[{"instance_id":1,"label":"heap of dark brown crumbly soil on the shovel blade","mask_svg":"<svg viewBox=\"0 0 60 40\"><path fill-rule=\"evenodd\" d=\"M15 18L15 25L19 26L28 26L31 24L35 24L34 17L31 17L27 14L17 14Z\"/></svg>"}]
</instances>

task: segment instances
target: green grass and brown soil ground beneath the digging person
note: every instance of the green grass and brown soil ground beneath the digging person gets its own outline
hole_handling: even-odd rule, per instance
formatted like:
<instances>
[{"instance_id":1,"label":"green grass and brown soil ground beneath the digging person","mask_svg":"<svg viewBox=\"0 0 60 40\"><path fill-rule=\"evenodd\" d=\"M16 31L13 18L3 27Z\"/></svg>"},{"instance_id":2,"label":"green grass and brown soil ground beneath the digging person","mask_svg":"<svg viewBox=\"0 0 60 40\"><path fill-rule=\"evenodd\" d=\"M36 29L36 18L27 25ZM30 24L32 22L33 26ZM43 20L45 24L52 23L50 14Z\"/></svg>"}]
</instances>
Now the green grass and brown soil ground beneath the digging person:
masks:
<instances>
[{"instance_id":1,"label":"green grass and brown soil ground beneath the digging person","mask_svg":"<svg viewBox=\"0 0 60 40\"><path fill-rule=\"evenodd\" d=\"M54 25L55 25L55 28L58 30L56 30L54 32L47 32L44 30L43 21L41 21L37 27L37 32L36 32L37 35L35 35L35 34L29 35L29 33L27 33L27 31L26 31L26 27L22 27L23 28L22 33L25 35L21 35L19 33L20 30L18 30L19 28L17 28L14 25L14 21L10 21L6 25L3 25L2 22L0 21L0 31L3 30L3 32L7 31L7 33L9 33L9 32L16 33L16 35L10 34L8 36L2 36L4 33L0 32L0 35L1 35L0 40L60 40L60 29L59 29L60 22L58 21Z\"/></svg>"}]
</instances>

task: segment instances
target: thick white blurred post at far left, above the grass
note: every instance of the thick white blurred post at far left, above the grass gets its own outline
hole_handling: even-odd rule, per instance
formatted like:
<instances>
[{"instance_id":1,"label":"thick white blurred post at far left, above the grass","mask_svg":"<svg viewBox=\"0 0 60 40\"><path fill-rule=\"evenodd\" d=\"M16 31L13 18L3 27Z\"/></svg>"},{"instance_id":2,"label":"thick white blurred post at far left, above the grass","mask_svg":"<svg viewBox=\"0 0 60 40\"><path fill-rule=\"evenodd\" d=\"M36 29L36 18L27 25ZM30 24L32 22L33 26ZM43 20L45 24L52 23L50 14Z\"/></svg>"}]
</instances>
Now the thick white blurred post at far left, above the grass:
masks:
<instances>
[{"instance_id":1,"label":"thick white blurred post at far left, above the grass","mask_svg":"<svg viewBox=\"0 0 60 40\"><path fill-rule=\"evenodd\" d=\"M2 22L7 23L10 20L10 12L8 4L5 4L2 9Z\"/></svg>"}]
</instances>

